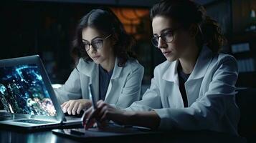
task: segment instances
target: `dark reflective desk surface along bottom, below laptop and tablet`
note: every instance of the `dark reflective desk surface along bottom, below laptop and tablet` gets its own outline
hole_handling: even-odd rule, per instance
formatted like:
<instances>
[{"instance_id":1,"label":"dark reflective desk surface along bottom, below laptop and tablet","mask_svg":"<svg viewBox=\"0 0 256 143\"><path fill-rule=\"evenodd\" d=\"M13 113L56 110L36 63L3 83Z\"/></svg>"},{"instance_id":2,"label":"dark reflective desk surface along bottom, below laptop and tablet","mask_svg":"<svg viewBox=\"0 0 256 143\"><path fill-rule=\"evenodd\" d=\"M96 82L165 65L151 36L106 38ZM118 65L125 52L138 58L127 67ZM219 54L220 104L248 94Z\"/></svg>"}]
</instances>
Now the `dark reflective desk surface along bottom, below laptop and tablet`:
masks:
<instances>
[{"instance_id":1,"label":"dark reflective desk surface along bottom, below laptop and tablet","mask_svg":"<svg viewBox=\"0 0 256 143\"><path fill-rule=\"evenodd\" d=\"M127 139L128 138L128 139ZM99 142L98 139L95 142ZM30 132L30 133L22 133L22 132L14 132L9 130L0 129L0 142L60 142L60 143L74 143L79 142L79 140L69 139L67 137L61 137L56 134L53 134L52 131L44 131L44 132ZM83 140L83 142L86 142ZM164 132L161 134L151 134L143 135L139 137L111 137L110 139L105 139L104 142L179 142L179 143L199 143L199 142L218 142L218 143L245 143L246 139L243 137L236 137L229 134L222 134L219 132L210 132L210 131L172 131L172 132Z\"/></svg>"}]
</instances>

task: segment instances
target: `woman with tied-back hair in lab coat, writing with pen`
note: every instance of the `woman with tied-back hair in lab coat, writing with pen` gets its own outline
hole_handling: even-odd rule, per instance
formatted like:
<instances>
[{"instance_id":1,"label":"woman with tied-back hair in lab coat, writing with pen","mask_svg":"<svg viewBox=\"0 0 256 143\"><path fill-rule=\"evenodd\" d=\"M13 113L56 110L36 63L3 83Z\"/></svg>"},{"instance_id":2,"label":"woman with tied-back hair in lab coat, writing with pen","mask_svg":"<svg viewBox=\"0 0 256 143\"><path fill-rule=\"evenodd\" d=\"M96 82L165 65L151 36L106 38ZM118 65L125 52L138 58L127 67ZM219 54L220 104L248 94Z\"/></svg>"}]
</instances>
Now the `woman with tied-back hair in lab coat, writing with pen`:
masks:
<instances>
[{"instance_id":1,"label":"woman with tied-back hair in lab coat, writing with pen","mask_svg":"<svg viewBox=\"0 0 256 143\"><path fill-rule=\"evenodd\" d=\"M224 43L217 21L189 0L166 0L151 9L153 45L166 61L156 66L141 101L115 109L103 101L85 112L85 129L113 120L151 129L209 129L237 134L237 62L220 54ZM85 120L87 122L85 122Z\"/></svg>"}]
</instances>

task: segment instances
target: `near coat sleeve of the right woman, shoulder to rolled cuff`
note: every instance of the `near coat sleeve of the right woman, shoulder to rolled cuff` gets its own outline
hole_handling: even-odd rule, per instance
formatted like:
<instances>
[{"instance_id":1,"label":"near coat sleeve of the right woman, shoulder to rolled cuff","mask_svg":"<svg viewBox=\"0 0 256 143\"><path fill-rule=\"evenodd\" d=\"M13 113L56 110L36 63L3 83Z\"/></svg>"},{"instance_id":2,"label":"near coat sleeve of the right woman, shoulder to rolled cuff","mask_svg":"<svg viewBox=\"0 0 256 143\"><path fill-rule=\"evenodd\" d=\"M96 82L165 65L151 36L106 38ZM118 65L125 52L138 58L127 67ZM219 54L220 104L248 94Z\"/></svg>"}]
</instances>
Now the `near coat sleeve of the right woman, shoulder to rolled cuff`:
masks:
<instances>
[{"instance_id":1,"label":"near coat sleeve of the right woman, shoulder to rolled cuff","mask_svg":"<svg viewBox=\"0 0 256 143\"><path fill-rule=\"evenodd\" d=\"M211 129L234 103L237 62L232 56L219 60L208 91L188 108L154 109L161 118L159 129Z\"/></svg>"}]
</instances>

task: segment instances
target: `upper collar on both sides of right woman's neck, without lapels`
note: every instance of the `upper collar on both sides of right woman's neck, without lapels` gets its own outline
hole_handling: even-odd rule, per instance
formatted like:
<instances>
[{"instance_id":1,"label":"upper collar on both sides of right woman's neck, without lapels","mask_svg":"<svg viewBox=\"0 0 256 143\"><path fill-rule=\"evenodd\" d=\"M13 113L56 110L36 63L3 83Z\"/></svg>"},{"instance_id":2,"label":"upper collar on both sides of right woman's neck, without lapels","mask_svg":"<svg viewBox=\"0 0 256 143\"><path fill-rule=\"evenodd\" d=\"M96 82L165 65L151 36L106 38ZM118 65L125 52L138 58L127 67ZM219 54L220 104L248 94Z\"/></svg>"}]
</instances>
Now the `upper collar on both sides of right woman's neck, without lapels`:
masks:
<instances>
[{"instance_id":1,"label":"upper collar on both sides of right woman's neck, without lapels","mask_svg":"<svg viewBox=\"0 0 256 143\"><path fill-rule=\"evenodd\" d=\"M204 74L207 72L208 66L211 61L212 51L207 46L203 46L202 50L200 51L199 57L197 58L194 69L191 75L189 76L188 80L199 79L204 77ZM179 76L177 72L179 60L170 63L171 64L169 68L164 72L162 79L179 84Z\"/></svg>"}]
</instances>

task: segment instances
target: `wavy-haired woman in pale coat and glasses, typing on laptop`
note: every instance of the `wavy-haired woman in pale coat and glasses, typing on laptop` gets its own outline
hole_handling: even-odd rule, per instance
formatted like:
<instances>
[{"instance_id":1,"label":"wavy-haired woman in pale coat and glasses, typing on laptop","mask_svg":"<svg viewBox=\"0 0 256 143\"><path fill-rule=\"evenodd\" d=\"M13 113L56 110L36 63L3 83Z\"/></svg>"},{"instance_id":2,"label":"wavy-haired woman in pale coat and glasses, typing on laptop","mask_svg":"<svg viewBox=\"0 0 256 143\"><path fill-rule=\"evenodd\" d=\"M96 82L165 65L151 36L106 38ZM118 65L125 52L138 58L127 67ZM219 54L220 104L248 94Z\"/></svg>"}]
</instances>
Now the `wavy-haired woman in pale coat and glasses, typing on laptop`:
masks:
<instances>
[{"instance_id":1,"label":"wavy-haired woman in pale coat and glasses, typing on laptop","mask_svg":"<svg viewBox=\"0 0 256 143\"><path fill-rule=\"evenodd\" d=\"M93 9L83 16L72 50L78 64L63 87L55 90L63 112L75 115L90 107L90 92L96 100L120 109L138 101L144 69L132 45L133 38L109 9Z\"/></svg>"}]
</instances>

